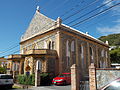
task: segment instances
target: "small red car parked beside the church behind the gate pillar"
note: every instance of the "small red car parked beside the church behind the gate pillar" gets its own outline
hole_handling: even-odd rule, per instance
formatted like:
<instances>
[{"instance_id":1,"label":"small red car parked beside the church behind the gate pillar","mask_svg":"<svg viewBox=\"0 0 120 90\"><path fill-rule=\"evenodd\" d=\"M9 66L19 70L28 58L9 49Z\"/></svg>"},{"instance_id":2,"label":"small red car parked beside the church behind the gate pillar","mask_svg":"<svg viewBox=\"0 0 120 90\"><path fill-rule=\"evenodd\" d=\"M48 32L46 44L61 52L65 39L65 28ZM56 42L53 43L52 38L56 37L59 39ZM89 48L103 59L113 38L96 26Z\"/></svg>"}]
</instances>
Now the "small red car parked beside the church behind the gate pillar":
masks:
<instances>
[{"instance_id":1,"label":"small red car parked beside the church behind the gate pillar","mask_svg":"<svg viewBox=\"0 0 120 90\"><path fill-rule=\"evenodd\" d=\"M70 73L62 73L61 75L53 78L52 84L54 84L54 85L71 84L71 74Z\"/></svg>"}]
</instances>

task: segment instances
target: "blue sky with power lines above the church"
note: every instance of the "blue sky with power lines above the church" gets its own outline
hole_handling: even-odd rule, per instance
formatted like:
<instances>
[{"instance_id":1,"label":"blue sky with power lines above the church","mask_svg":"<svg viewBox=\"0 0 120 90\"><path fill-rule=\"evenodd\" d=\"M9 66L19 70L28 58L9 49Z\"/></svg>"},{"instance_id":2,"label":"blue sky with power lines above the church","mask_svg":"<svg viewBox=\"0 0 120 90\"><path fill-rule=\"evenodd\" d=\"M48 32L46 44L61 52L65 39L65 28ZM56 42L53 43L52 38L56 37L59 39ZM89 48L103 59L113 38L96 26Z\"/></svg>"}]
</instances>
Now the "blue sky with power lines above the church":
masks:
<instances>
[{"instance_id":1,"label":"blue sky with power lines above the church","mask_svg":"<svg viewBox=\"0 0 120 90\"><path fill-rule=\"evenodd\" d=\"M35 14L37 5L40 6L40 12L42 14L54 20L56 20L57 17L65 19L81 10L80 13L69 17L67 20L63 20L64 24L71 26L120 2L120 0L114 0L83 18L68 24L72 20L75 20L109 1L111 0L1 0L0 56L6 56L18 52L20 37L26 31L33 15ZM82 10L90 3L93 4ZM82 32L89 32L89 34L95 38L103 35L120 33L120 5L94 19L73 26L73 28Z\"/></svg>"}]
</instances>

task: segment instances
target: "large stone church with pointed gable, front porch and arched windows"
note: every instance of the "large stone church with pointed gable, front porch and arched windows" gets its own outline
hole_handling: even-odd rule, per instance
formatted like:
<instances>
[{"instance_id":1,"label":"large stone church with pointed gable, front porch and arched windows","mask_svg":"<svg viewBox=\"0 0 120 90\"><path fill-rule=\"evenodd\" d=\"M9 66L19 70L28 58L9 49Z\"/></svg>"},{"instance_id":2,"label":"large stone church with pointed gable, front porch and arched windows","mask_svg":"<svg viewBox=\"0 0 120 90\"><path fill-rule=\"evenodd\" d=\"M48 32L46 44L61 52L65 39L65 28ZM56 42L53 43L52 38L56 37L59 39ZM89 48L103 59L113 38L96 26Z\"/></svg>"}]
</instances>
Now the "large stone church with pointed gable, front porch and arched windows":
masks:
<instances>
[{"instance_id":1,"label":"large stone church with pointed gable, front porch and arched windows","mask_svg":"<svg viewBox=\"0 0 120 90\"><path fill-rule=\"evenodd\" d=\"M62 24L62 20L52 20L36 10L25 34L20 41L20 54L10 55L9 71L25 74L41 72L60 74L70 72L77 64L81 76L88 75L88 67L110 67L109 46L100 40ZM38 64L38 65L36 65ZM37 67L36 67L37 66ZM30 68L26 70L26 68Z\"/></svg>"}]
</instances>

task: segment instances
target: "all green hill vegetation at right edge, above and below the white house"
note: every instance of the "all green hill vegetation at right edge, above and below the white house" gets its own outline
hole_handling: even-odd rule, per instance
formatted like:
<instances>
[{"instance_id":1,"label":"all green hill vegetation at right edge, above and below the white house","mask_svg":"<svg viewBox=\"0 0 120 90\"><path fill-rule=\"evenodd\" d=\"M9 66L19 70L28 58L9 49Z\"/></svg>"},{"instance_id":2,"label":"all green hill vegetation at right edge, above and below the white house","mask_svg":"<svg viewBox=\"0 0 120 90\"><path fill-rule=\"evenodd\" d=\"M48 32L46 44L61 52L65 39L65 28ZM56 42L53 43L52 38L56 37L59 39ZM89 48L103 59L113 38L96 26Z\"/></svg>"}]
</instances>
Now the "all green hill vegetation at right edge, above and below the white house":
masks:
<instances>
[{"instance_id":1,"label":"all green hill vegetation at right edge, above and below the white house","mask_svg":"<svg viewBox=\"0 0 120 90\"><path fill-rule=\"evenodd\" d=\"M99 40L108 41L110 46L116 46L115 49L109 51L111 63L120 63L120 34L110 34L102 36Z\"/></svg>"}]
</instances>

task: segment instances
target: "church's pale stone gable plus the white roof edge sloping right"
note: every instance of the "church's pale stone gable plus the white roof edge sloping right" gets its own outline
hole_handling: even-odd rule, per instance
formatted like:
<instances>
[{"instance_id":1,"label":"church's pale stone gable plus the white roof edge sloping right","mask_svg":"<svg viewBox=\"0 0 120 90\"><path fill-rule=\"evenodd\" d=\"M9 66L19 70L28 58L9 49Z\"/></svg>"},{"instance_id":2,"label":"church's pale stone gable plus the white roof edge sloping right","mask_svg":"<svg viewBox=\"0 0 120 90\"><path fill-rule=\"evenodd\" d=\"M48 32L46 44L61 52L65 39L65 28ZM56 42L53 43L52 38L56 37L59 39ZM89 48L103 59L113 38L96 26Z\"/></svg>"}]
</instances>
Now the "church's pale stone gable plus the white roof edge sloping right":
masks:
<instances>
[{"instance_id":1,"label":"church's pale stone gable plus the white roof edge sloping right","mask_svg":"<svg viewBox=\"0 0 120 90\"><path fill-rule=\"evenodd\" d=\"M51 30L58 28L58 27L61 27L61 28L65 27L65 28L67 28L67 31L81 34L82 36L89 38L90 40L93 40L97 43L101 43L105 46L108 46L104 42L92 37L91 35L85 34L79 30L76 30L76 29L69 27L65 24L62 24L62 20L59 17L57 18L56 21L52 20L52 19L44 16L43 14L41 14L39 12L39 10L36 10L36 13L35 13L33 19L31 20L28 29L26 30L25 34L21 37L21 42L24 42L26 40L34 38L37 35L41 35L45 32L51 31Z\"/></svg>"}]
</instances>

